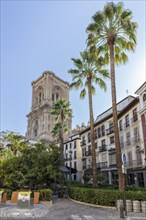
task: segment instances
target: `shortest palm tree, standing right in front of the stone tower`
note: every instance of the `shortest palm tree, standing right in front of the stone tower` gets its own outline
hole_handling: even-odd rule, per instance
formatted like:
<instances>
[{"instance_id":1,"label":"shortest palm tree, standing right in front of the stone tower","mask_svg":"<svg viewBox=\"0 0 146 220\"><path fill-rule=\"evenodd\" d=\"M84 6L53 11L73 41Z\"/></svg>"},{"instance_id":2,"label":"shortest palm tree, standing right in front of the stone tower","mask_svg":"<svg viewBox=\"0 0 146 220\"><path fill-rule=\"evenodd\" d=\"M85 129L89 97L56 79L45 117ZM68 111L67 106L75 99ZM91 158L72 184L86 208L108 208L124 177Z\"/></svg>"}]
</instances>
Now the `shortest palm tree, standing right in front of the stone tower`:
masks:
<instances>
[{"instance_id":1,"label":"shortest palm tree, standing right in front of the stone tower","mask_svg":"<svg viewBox=\"0 0 146 220\"><path fill-rule=\"evenodd\" d=\"M55 116L55 123L53 126L52 134L54 137L58 136L60 140L60 160L63 165L63 135L69 131L69 121L73 117L70 103L65 99L58 99L52 105L51 114Z\"/></svg>"}]
</instances>

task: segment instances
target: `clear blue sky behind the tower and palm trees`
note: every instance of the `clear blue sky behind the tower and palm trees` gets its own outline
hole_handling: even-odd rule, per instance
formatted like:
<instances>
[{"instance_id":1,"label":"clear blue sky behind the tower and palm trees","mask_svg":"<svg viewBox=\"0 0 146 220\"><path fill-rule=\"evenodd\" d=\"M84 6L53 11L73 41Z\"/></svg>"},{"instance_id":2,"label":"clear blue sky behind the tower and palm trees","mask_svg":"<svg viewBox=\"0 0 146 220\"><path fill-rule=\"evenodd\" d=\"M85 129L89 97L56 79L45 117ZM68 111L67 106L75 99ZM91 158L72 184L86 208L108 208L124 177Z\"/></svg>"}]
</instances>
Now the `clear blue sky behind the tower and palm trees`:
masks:
<instances>
[{"instance_id":1,"label":"clear blue sky behind the tower and palm trees","mask_svg":"<svg viewBox=\"0 0 146 220\"><path fill-rule=\"evenodd\" d=\"M118 1L114 1L118 2ZM135 53L129 62L116 68L117 101L134 92L146 80L145 0L123 1L139 25ZM31 108L31 82L43 71L51 70L71 82L67 73L71 58L79 57L86 47L87 25L106 1L3 1L1 0L1 115L0 130L25 134L26 115ZM97 87L94 118L111 107L110 82L107 92ZM73 127L89 120L88 99L70 91L74 112Z\"/></svg>"}]
</instances>

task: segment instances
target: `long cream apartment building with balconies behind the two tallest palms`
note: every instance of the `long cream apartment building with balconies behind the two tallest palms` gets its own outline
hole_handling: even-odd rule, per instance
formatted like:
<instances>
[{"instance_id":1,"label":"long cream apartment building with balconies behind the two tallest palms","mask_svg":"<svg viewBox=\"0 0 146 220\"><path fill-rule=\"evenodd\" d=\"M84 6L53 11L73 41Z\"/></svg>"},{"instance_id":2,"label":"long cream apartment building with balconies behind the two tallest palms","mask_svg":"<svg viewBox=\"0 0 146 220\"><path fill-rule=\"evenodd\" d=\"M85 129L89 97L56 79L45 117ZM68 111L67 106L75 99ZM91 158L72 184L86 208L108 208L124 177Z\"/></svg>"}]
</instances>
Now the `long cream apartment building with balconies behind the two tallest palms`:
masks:
<instances>
[{"instance_id":1,"label":"long cream apartment building with balconies behind the two tallest palms","mask_svg":"<svg viewBox=\"0 0 146 220\"><path fill-rule=\"evenodd\" d=\"M137 91L138 97L128 96L117 103L120 147L127 185L146 187L146 83ZM95 124L97 172L105 182L118 184L112 108L98 115ZM90 126L78 132L82 176L92 175ZM80 158L80 157L78 157ZM70 161L72 161L70 159Z\"/></svg>"}]
</instances>

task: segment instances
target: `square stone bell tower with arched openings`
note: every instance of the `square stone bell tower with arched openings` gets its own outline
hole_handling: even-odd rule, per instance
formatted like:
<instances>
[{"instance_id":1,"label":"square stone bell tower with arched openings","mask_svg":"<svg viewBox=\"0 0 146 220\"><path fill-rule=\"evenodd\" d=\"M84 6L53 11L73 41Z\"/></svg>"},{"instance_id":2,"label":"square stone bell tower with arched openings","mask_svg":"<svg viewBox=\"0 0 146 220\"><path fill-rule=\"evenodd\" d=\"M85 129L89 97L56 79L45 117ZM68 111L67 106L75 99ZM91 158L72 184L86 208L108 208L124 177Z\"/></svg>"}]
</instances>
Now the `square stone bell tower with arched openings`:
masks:
<instances>
[{"instance_id":1,"label":"square stone bell tower with arched openings","mask_svg":"<svg viewBox=\"0 0 146 220\"><path fill-rule=\"evenodd\" d=\"M27 115L27 139L40 139L45 143L53 141L51 131L54 117L51 115L51 108L59 98L69 101L69 83L53 72L44 71L42 76L32 82L31 111ZM69 127L71 129L71 121Z\"/></svg>"}]
</instances>

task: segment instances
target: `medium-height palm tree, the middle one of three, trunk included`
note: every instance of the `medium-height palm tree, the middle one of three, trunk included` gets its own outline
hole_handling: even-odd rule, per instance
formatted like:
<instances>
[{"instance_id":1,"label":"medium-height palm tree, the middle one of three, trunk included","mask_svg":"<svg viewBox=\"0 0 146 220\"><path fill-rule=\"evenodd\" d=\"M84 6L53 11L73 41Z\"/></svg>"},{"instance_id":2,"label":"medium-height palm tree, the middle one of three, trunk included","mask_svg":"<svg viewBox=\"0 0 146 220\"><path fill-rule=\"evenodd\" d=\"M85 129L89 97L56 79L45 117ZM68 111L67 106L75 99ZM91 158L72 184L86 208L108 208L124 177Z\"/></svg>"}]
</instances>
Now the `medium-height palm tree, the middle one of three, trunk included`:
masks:
<instances>
[{"instance_id":1,"label":"medium-height palm tree, the middle one of three, trunk included","mask_svg":"<svg viewBox=\"0 0 146 220\"><path fill-rule=\"evenodd\" d=\"M89 114L90 114L90 130L91 130L91 145L92 145L92 175L93 175L93 187L97 186L97 169L96 169L96 151L95 151L95 138L94 138L94 118L93 118L93 104L92 95L95 94L94 84L98 84L102 89L106 90L105 82L97 76L97 73L102 78L108 77L108 72L102 69L102 59L97 61L97 54L84 51L80 53L80 59L72 58L76 69L70 69L68 73L72 75L71 88L82 88L80 98L86 96L86 89L88 91L89 99Z\"/></svg>"}]
</instances>

